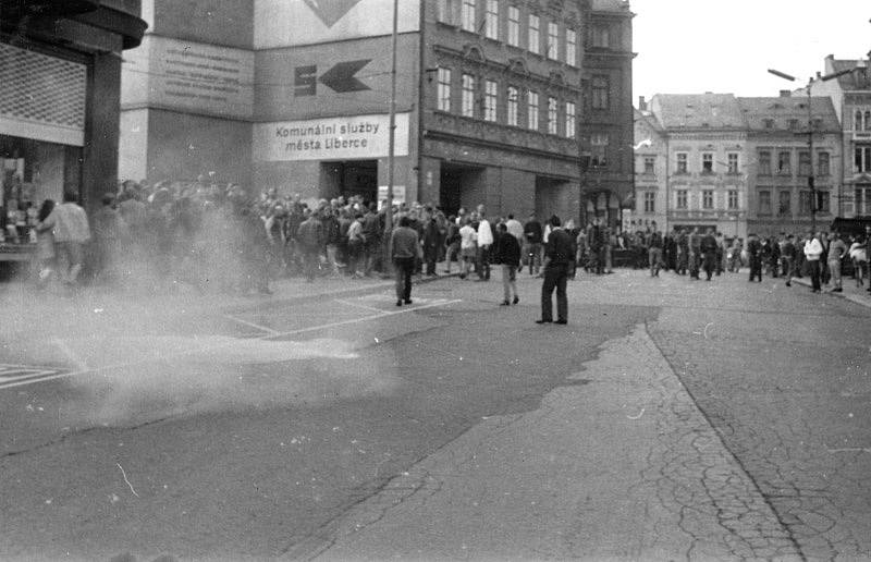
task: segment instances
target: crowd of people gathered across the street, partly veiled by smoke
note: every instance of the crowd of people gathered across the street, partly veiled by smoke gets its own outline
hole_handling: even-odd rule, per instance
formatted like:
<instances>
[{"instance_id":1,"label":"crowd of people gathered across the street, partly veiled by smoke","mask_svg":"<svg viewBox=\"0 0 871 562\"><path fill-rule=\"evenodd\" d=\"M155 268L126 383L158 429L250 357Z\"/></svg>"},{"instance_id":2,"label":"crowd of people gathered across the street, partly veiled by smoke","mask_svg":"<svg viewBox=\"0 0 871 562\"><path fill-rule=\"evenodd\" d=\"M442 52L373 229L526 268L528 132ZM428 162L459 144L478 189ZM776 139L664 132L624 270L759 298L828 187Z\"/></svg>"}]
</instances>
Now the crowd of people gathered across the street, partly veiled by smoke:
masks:
<instances>
[{"instance_id":1,"label":"crowd of people gathered across the street, partly veiled by smoke","mask_svg":"<svg viewBox=\"0 0 871 562\"><path fill-rule=\"evenodd\" d=\"M409 276L436 276L437 264L443 262L443 272L456 267L461 279L478 281L488 281L491 265L500 265L505 268L502 304L510 305L519 301L515 281L524 268L529 276L543 277L545 248L555 228L572 244L569 279L581 269L611 272L615 254L628 256L631 267L649 269L654 277L671 270L698 280L703 271L711 280L749 268L750 281L761 281L764 270L786 278L786 284L793 277L807 276L814 291L826 283L842 291L845 261L859 286L869 277L871 229L849 237L835 232L768 239L750 234L745 243L727 241L711 229L663 233L655 223L617 232L600 219L585 228L571 220L554 225L535 215L522 222L513 215L489 217L482 205L447 216L434 205L417 203L394 205L388 217L387 209L357 196L304 201L269 190L250 197L237 184L219 186L204 176L155 185L126 181L118 193L103 196L89 221L71 194L61 204L44 203L36 224L38 286L53 273L66 286L75 286L87 261L95 282L150 286L150 276L158 276L200 291L269 294L270 281L281 277L314 282L319 277L380 276L402 257L414 258L412 266L403 261ZM416 233L419 254L395 255L385 235L388 219L394 228ZM397 297L397 304L407 300L398 285Z\"/></svg>"}]
</instances>

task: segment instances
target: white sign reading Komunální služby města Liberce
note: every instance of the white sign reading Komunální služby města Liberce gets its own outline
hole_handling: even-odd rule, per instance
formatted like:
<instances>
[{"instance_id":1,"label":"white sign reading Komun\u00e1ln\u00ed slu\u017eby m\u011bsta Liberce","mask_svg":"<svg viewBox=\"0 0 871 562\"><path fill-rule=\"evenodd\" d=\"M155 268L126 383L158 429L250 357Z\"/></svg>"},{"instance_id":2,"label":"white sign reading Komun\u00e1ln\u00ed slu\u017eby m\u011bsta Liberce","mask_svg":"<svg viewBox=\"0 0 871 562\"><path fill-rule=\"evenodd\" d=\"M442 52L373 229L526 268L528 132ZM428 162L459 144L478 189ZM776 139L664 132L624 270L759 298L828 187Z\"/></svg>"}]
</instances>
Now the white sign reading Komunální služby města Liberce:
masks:
<instances>
[{"instance_id":1,"label":"white sign reading Komun\u00e1ln\u00ed slu\u017eby m\u011bsta Liberce","mask_svg":"<svg viewBox=\"0 0 871 562\"><path fill-rule=\"evenodd\" d=\"M394 156L408 155L408 113L396 114ZM254 159L347 160L389 154L389 115L349 115L254 125Z\"/></svg>"}]
</instances>

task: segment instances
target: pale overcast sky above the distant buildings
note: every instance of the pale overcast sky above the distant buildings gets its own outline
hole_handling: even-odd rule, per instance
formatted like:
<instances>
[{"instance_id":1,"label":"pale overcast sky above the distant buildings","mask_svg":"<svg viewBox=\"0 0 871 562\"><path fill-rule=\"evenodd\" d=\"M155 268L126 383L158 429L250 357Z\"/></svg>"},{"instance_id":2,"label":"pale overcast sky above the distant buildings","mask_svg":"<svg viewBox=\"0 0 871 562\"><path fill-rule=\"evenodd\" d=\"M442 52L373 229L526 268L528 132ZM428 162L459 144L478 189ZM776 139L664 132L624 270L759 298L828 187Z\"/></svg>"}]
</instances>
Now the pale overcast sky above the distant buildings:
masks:
<instances>
[{"instance_id":1,"label":"pale overcast sky above the distant buildings","mask_svg":"<svg viewBox=\"0 0 871 562\"><path fill-rule=\"evenodd\" d=\"M871 0L631 0L631 10L635 105L653 94L776 96L822 72L826 54L871 50Z\"/></svg>"}]
</instances>

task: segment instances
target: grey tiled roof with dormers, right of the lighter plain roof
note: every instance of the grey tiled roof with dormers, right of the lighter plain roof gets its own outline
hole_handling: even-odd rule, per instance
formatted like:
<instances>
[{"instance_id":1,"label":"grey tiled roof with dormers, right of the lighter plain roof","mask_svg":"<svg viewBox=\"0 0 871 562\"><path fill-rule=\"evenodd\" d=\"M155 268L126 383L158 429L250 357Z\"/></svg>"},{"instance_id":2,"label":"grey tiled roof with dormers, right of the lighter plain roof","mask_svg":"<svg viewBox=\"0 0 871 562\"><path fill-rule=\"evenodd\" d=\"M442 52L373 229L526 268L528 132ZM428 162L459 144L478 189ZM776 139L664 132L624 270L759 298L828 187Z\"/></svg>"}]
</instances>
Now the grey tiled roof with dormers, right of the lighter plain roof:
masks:
<instances>
[{"instance_id":1,"label":"grey tiled roof with dormers, right of the lighter plain roof","mask_svg":"<svg viewBox=\"0 0 871 562\"><path fill-rule=\"evenodd\" d=\"M822 120L818 129L823 131L841 131L841 124L832 105L832 98L812 97L810 103L811 118ZM808 126L808 98L800 97L768 97L768 98L738 98L738 105L751 131L788 131L789 121L798 121L798 130ZM773 119L773 126L765 126L765 120Z\"/></svg>"}]
</instances>

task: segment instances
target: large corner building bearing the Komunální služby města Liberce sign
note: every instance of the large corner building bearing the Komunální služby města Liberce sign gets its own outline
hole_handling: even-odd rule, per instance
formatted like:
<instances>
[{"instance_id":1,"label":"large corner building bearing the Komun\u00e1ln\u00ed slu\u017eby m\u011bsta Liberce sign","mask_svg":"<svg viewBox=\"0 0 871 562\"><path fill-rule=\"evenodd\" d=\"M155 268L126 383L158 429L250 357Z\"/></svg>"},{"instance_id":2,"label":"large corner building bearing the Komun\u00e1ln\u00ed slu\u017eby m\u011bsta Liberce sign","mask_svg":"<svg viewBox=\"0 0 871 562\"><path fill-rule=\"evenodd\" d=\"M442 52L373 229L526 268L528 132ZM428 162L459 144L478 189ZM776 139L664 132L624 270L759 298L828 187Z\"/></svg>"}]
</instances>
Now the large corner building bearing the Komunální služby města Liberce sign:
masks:
<instances>
[{"instance_id":1,"label":"large corner building bearing the Komun\u00e1ln\u00ed slu\u017eby m\u011bsta Liberce sign","mask_svg":"<svg viewBox=\"0 0 871 562\"><path fill-rule=\"evenodd\" d=\"M609 111L625 113L601 126L627 129L621 135L629 144L628 4L398 5L395 199L436 203L446 212L482 203L490 213L581 219L593 83L585 46L596 17L621 38L601 50L628 63L603 72L606 95L596 84ZM383 198L392 0L149 0L149 7L154 25L143 45L150 50L138 49L125 69L127 178L194 180L214 171L256 191ZM598 149L599 168L616 173L619 158L604 151L617 155L623 140L610 134L614 146ZM631 193L630 181L599 187L619 191L613 200Z\"/></svg>"}]
</instances>

